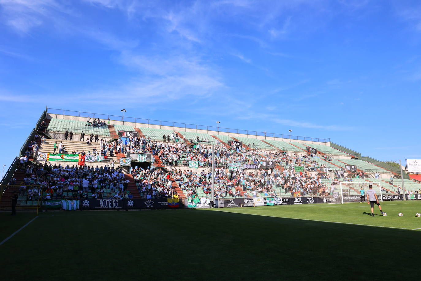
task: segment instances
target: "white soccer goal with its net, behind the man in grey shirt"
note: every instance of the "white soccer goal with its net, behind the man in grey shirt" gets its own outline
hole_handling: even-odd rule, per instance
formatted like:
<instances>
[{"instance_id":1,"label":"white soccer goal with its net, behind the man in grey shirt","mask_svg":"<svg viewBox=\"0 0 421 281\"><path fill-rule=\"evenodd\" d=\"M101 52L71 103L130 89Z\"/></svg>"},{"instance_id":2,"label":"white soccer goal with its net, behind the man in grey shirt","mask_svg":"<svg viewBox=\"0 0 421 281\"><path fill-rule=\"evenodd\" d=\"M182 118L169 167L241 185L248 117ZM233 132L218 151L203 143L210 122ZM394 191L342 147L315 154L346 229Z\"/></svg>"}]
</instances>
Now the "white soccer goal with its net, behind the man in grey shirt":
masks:
<instances>
[{"instance_id":1,"label":"white soccer goal with its net, behind the man in grey shirt","mask_svg":"<svg viewBox=\"0 0 421 281\"><path fill-rule=\"evenodd\" d=\"M349 202L361 202L361 188L364 190L364 197L362 198L362 202L364 199L367 200L367 190L369 189L369 185L373 185L373 189L377 193L377 198L379 201L383 202L382 198L382 191L381 191L381 183L378 182L340 182L337 185L333 185L331 187L331 195L335 200L331 203L333 204L343 204Z\"/></svg>"}]
</instances>

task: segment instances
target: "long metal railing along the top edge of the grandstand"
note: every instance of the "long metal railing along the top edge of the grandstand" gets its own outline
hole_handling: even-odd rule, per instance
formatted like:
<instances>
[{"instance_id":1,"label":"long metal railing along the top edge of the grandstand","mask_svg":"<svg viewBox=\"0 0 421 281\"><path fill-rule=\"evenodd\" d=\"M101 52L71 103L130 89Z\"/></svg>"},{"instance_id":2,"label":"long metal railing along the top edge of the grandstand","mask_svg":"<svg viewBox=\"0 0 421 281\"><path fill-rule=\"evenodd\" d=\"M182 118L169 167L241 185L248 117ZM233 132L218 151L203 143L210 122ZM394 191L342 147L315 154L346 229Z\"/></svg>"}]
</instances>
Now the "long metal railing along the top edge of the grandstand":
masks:
<instances>
[{"instance_id":1,"label":"long metal railing along the top edge of the grandstand","mask_svg":"<svg viewBox=\"0 0 421 281\"><path fill-rule=\"evenodd\" d=\"M108 115L108 114L99 114L93 112L80 112L80 111L73 111L73 110L64 110L64 109L56 109L56 108L47 108L47 113L56 114L56 115L64 115L67 116L74 116L77 117L80 121L81 118L85 120L88 117L91 118L100 118L101 120L107 120L108 118L113 121L118 121L122 125L124 121L131 122L131 123L142 123L146 125L157 125L157 126L168 126L175 128L184 128L184 129L195 129L195 130L204 130L204 131L211 131L211 132L224 132L224 133L232 133L232 134L245 134L248 136L255 136L254 138L257 139L257 136L264 136L266 137L275 137L275 138L282 138L282 139L290 139L290 140L302 140L307 142L330 142L330 139L320 139L320 138L312 138L306 136L290 136L289 134L275 134L275 133L267 133L267 132L259 132L259 131L249 131L249 130L241 130L241 129L233 129L233 128L223 128L223 127L216 127L216 126L205 126L205 125L196 125L196 124L188 124L188 123L178 123L178 122L171 122L171 121L162 121L162 120L153 120L153 119L144 119L144 118L134 118L134 117L127 117L119 115Z\"/></svg>"}]
</instances>

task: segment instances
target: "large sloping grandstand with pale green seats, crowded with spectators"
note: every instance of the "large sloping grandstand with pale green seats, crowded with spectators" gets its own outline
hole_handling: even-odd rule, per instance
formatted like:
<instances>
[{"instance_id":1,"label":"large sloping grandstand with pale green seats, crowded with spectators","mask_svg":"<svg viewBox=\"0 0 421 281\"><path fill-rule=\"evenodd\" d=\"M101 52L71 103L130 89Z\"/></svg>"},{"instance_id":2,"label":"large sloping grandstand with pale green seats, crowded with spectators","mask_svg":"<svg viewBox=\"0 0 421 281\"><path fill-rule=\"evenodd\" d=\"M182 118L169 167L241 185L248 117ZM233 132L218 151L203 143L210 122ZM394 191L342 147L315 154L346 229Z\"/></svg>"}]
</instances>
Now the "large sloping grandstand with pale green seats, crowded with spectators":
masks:
<instances>
[{"instance_id":1,"label":"large sloping grandstand with pale green seats, crowded with spectators","mask_svg":"<svg viewBox=\"0 0 421 281\"><path fill-rule=\"evenodd\" d=\"M92 126L92 123L87 122L87 116L92 118L100 116L102 121L107 121L109 118L109 125L101 123L101 126ZM51 162L43 158L54 152L56 142L57 144L62 143L65 148L62 152L64 154L74 152L76 155L84 153L89 156L91 162L84 163L88 168L97 166L105 168L107 166L108 169L115 167L116 170L119 170L124 175L123 178L128 181L125 190L130 191L133 198L146 198L148 190L145 190L144 187L145 185L150 187L151 182L156 182L162 190L165 190L165 196L171 194L171 196L177 195L179 198L209 197L210 193L205 190L210 186L211 146L215 146L218 151L218 155L215 155L215 167L218 175L215 182L217 198L291 196L297 192L301 195L320 195L327 192L333 180L344 183L371 182L377 186L381 185L388 193L400 192L401 179L398 179L400 174L392 171L390 166L381 166L382 162L367 156L363 158L364 161L355 159L356 155L360 155L359 153L337 144L332 147L330 139L299 136L288 136L287 138L280 134L261 134L260 132L227 128L219 128L219 130L221 131L216 131L209 126L127 117L123 120L123 118L112 115L86 114L47 108L17 156L27 155L26 167L40 164L51 167L59 165L65 167L68 164L78 166L77 162L61 161L61 159ZM73 133L72 140L65 138L66 131ZM82 131L85 133L83 141L80 140ZM139 140L137 143L129 142L127 146L124 143L120 144L118 131L137 131ZM98 142L87 143L86 139L90 134L98 135ZM172 134L178 134L179 138L172 139ZM163 135L170 136L170 141L168 142L167 138L164 140ZM45 137L45 141L41 142L41 136ZM237 151L229 147L229 140L240 141L243 147ZM173 145L174 143L176 146ZM200 151L196 149L196 144L200 144ZM317 149L317 154L309 155L307 153L309 147ZM152 154L155 162L149 160L150 162L142 163L133 159L132 166L120 166L120 158L127 157L129 153L134 155ZM97 156L100 157L96 158ZM1 182L5 196L0 201L0 208L8 208L10 205L8 195L19 190L23 179L28 177L27 170L19 169L19 157L13 161ZM270 181L269 168L264 166L266 165L265 161L274 162L274 166L270 168L274 179ZM232 173L229 168L232 163L245 165L245 168L234 170L235 172ZM157 169L161 171L161 176L152 171L144 172L140 169L147 169L152 165L159 167ZM345 165L357 166L357 172L345 171ZM303 173L306 182L311 185L296 187L295 185L286 185L286 182L283 181L282 177L285 177L285 173L288 175L295 173L294 170L298 169L297 166L302 166L301 173ZM254 167L254 169L250 167ZM265 170L263 175L261 175L262 169ZM345 176L341 176L340 171L343 171ZM361 178L362 172L364 172L365 178ZM162 175L167 174L169 178L165 180ZM375 175L378 175L378 178L375 178ZM93 177L96 176L99 175L95 174ZM393 183L390 182L391 177L395 179ZM265 179L264 183L261 183L261 178ZM112 181L110 180L104 185L103 189L107 194L112 190L110 188ZM171 182L171 187L166 186L167 182ZM29 182L30 185L35 185L35 183L37 182ZM421 188L421 184L412 179L405 178L404 183L405 189L410 192L418 193ZM94 190L92 189L86 196L92 196L92 191ZM350 192L357 194L357 190L350 190ZM27 195L26 191L19 195L20 206L35 205L35 200L27 200ZM59 195L71 196L69 191L58 194L54 190L53 197ZM115 192L111 192L111 196L115 195ZM164 196L164 193L155 194L154 191L151 196Z\"/></svg>"}]
</instances>

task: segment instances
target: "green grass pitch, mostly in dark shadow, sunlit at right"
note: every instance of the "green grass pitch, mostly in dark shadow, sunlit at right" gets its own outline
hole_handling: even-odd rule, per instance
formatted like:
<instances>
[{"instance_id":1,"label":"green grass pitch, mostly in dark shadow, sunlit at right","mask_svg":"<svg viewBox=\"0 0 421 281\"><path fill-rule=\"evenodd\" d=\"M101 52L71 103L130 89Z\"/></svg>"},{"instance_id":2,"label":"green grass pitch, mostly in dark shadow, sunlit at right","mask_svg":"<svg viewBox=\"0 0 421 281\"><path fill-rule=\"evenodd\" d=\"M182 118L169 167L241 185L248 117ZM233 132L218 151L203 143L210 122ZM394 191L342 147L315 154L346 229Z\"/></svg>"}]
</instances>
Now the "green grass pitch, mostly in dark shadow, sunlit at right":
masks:
<instances>
[{"instance_id":1,"label":"green grass pitch, mostly in dark shadow, sunlit at right","mask_svg":"<svg viewBox=\"0 0 421 281\"><path fill-rule=\"evenodd\" d=\"M387 217L360 203L42 212L0 245L0 278L414 279L421 202L382 207ZM1 214L0 241L33 217Z\"/></svg>"}]
</instances>

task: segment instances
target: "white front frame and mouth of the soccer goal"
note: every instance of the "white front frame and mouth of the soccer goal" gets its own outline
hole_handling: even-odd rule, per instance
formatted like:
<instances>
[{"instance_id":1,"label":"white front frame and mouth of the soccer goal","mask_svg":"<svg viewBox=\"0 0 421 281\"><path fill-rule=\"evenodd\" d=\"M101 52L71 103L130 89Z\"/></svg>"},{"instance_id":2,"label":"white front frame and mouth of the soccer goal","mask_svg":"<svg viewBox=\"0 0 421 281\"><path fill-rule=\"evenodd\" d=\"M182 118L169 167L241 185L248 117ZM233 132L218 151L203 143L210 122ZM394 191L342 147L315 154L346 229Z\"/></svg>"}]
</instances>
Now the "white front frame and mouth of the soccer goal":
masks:
<instances>
[{"instance_id":1,"label":"white front frame and mouth of the soccer goal","mask_svg":"<svg viewBox=\"0 0 421 281\"><path fill-rule=\"evenodd\" d=\"M339 196L341 198L340 203L349 203L349 202L361 202L361 188L365 191L364 196L367 200L367 190L369 185L373 186L373 190L377 193L377 198L379 201L383 202L381 183L380 182L340 182L339 183ZM362 198L364 202L364 198Z\"/></svg>"}]
</instances>

